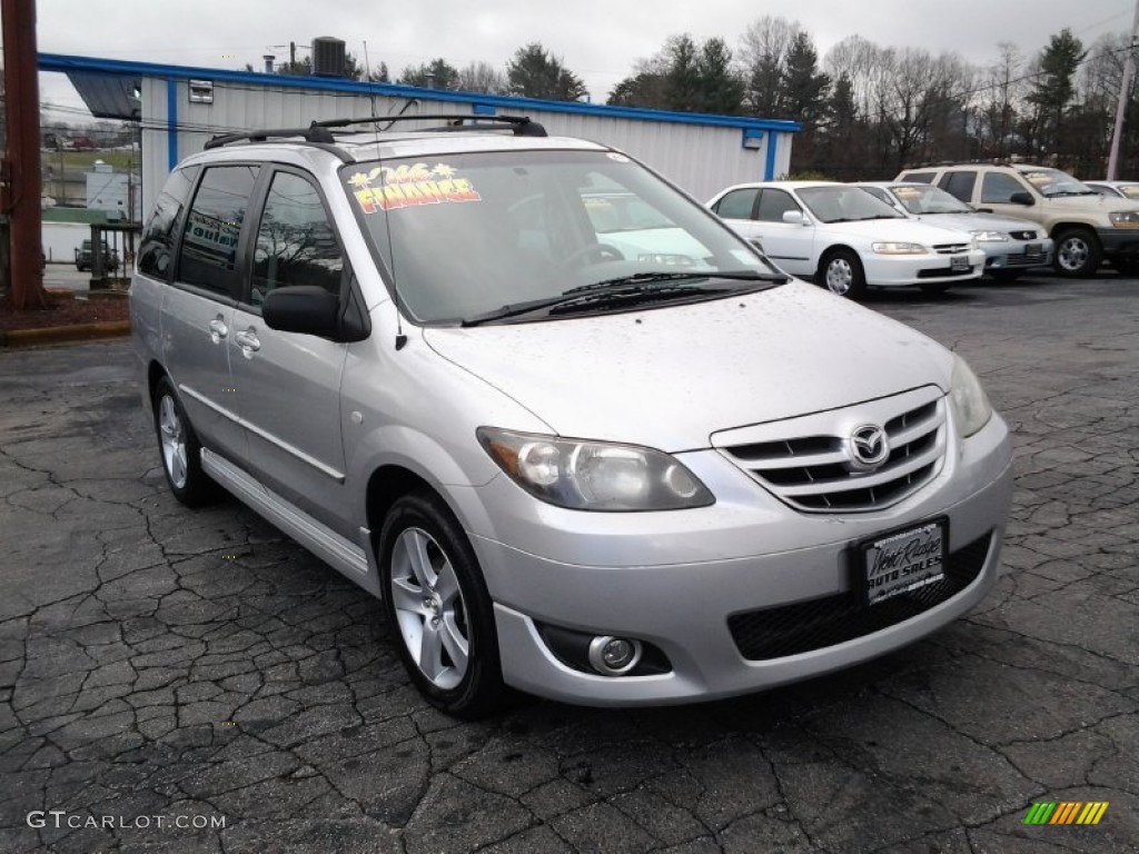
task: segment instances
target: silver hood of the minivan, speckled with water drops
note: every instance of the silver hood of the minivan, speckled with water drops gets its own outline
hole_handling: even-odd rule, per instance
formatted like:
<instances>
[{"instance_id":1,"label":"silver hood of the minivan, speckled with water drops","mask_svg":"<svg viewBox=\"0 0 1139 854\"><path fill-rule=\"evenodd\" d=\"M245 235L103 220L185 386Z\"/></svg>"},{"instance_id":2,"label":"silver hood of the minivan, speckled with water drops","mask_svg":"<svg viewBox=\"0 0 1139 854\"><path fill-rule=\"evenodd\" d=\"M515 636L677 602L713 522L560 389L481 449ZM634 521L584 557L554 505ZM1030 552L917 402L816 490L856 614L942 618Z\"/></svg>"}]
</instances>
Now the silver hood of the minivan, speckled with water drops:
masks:
<instances>
[{"instance_id":1,"label":"silver hood of the minivan, speckled with water drops","mask_svg":"<svg viewBox=\"0 0 1139 854\"><path fill-rule=\"evenodd\" d=\"M424 339L558 435L670 452L707 447L716 430L947 391L952 370L924 335L800 281L623 314L434 327Z\"/></svg>"}]
</instances>

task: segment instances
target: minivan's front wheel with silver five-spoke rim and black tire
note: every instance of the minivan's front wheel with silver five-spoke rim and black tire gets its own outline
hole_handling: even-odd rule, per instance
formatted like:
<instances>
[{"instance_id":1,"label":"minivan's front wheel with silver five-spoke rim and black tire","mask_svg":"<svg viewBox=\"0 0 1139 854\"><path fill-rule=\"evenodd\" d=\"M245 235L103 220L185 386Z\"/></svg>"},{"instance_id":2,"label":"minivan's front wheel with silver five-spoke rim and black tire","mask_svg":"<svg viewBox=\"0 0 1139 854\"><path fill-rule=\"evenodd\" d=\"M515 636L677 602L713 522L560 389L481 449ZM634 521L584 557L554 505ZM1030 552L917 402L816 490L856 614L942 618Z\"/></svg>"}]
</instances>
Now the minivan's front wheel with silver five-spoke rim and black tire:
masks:
<instances>
[{"instance_id":1,"label":"minivan's front wheel with silver five-spoke rim and black tire","mask_svg":"<svg viewBox=\"0 0 1139 854\"><path fill-rule=\"evenodd\" d=\"M474 549L431 492L393 504L379 534L384 613L403 666L436 708L466 720L508 699L494 610Z\"/></svg>"}]
</instances>

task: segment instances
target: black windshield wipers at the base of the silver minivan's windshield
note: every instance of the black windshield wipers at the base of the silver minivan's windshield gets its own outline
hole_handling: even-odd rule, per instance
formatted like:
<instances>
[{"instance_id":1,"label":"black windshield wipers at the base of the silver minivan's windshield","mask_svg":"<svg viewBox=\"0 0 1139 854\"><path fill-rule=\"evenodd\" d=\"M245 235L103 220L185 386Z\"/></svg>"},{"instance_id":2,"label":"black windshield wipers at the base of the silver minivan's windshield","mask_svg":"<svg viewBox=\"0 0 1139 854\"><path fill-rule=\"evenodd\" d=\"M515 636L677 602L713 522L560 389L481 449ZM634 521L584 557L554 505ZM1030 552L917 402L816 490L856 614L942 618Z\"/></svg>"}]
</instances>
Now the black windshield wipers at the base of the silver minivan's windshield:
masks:
<instances>
[{"instance_id":1,"label":"black windshield wipers at the base of the silver minivan's windshield","mask_svg":"<svg viewBox=\"0 0 1139 854\"><path fill-rule=\"evenodd\" d=\"M596 309L604 305L620 304L626 301L645 302L647 299L673 299L685 296L719 296L728 293L728 288L708 288L691 284L697 279L735 279L740 281L762 282L768 287L782 285L790 278L779 273L761 273L753 271L731 272L646 272L606 279L590 285L581 285L563 291L559 296L528 299L523 303L510 303L499 309L466 318L460 326L472 327L494 320L507 320L524 314L546 311L549 314L564 313L575 309Z\"/></svg>"}]
</instances>

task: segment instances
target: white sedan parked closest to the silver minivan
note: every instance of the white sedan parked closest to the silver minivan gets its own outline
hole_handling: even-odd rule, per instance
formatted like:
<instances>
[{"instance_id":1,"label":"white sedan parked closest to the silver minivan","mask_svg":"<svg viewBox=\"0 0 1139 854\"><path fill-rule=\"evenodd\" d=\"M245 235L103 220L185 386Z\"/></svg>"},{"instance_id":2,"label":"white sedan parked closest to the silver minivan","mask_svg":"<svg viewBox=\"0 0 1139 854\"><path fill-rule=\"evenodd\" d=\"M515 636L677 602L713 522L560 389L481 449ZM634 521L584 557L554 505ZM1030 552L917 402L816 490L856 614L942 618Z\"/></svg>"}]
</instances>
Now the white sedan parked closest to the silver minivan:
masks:
<instances>
[{"instance_id":1,"label":"white sedan parked closest to the silver minivan","mask_svg":"<svg viewBox=\"0 0 1139 854\"><path fill-rule=\"evenodd\" d=\"M906 219L869 192L829 181L736 184L707 206L788 273L839 296L867 286L942 291L977 279L985 254L964 231Z\"/></svg>"}]
</instances>

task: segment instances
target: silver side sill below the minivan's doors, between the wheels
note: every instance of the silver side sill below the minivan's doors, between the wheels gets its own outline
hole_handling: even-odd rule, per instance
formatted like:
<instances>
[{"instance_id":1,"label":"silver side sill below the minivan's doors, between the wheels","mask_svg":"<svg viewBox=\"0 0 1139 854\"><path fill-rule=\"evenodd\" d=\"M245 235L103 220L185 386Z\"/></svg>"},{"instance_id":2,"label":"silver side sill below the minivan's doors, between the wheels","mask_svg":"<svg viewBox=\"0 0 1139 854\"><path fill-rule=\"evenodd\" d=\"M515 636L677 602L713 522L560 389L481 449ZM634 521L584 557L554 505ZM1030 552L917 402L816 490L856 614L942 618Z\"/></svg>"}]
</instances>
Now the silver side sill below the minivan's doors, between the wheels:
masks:
<instances>
[{"instance_id":1,"label":"silver side sill below the minivan's doors, between the wheels","mask_svg":"<svg viewBox=\"0 0 1139 854\"><path fill-rule=\"evenodd\" d=\"M205 447L202 449L202 469L241 503L248 504L334 569L372 596L379 596L379 576L362 547L317 522L224 457ZM370 542L367 528L360 528L360 539Z\"/></svg>"}]
</instances>

